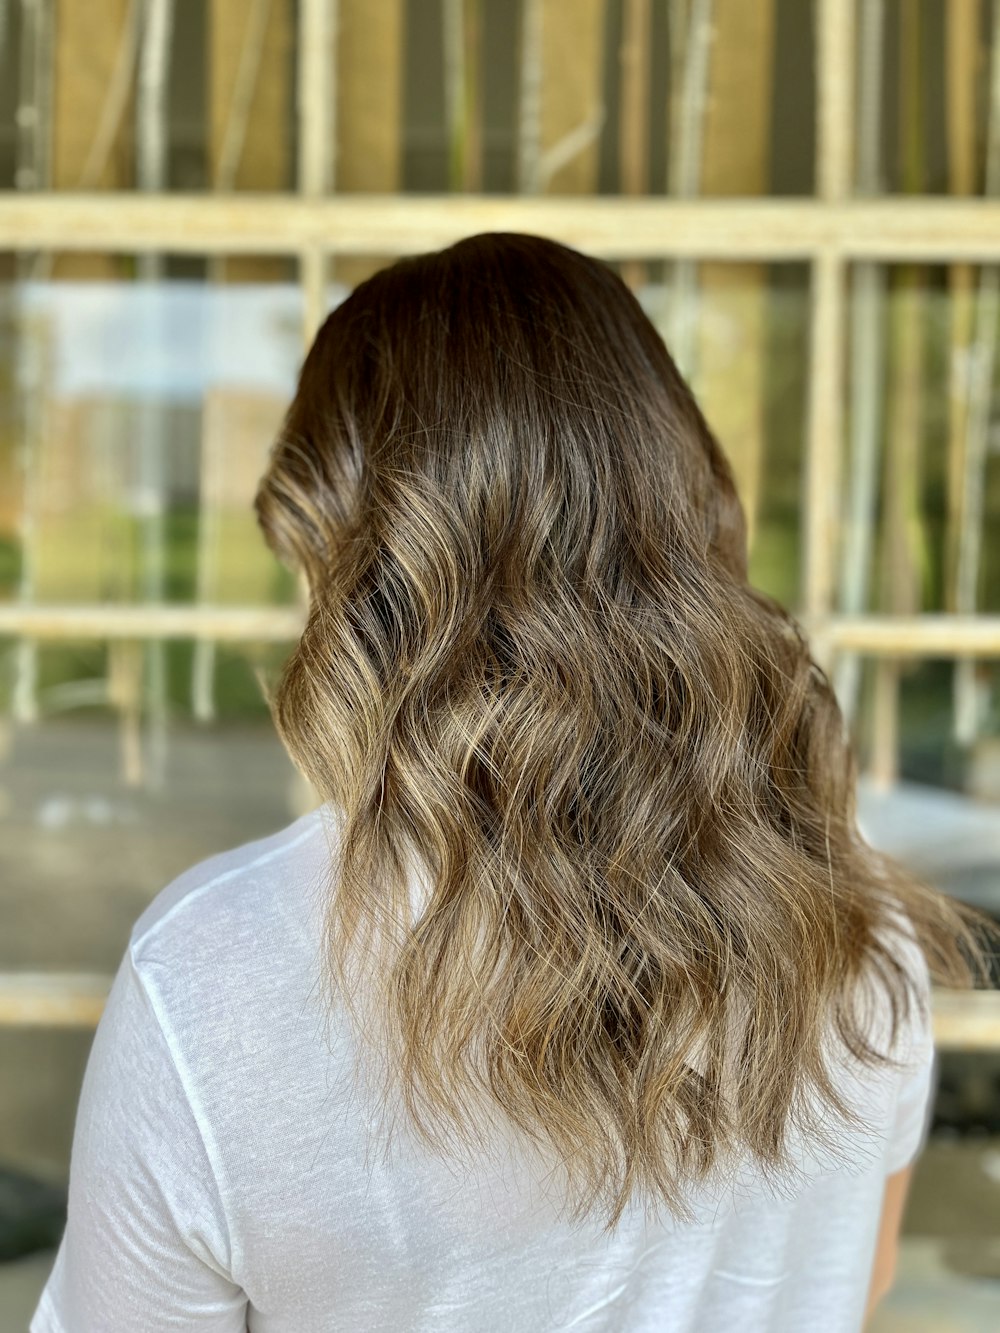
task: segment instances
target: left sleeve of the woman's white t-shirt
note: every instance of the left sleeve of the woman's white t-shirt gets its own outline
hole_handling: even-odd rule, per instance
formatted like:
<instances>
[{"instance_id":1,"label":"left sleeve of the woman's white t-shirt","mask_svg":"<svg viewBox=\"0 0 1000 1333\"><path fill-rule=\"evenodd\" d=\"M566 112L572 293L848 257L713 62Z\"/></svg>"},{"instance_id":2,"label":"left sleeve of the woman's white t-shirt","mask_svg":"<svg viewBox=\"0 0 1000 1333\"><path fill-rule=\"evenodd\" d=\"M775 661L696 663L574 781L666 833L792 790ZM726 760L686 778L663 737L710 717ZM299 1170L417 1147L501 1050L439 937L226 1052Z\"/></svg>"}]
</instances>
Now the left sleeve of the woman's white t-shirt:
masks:
<instances>
[{"instance_id":1,"label":"left sleeve of the woman's white t-shirt","mask_svg":"<svg viewBox=\"0 0 1000 1333\"><path fill-rule=\"evenodd\" d=\"M211 1157L131 948L84 1072L65 1229L29 1333L243 1333Z\"/></svg>"}]
</instances>

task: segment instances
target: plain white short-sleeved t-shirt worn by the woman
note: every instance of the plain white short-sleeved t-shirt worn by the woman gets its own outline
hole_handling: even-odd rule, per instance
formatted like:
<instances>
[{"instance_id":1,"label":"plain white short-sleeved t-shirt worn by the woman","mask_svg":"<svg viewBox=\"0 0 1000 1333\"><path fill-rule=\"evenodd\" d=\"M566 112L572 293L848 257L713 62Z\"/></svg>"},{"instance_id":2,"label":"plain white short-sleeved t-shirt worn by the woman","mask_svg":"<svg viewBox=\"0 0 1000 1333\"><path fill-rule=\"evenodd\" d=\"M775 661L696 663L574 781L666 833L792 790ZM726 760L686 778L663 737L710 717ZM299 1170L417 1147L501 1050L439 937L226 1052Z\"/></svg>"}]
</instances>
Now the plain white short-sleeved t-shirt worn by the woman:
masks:
<instances>
[{"instance_id":1,"label":"plain white short-sleeved t-shirt worn by the woman","mask_svg":"<svg viewBox=\"0 0 1000 1333\"><path fill-rule=\"evenodd\" d=\"M320 806L212 856L136 921L31 1333L857 1333L885 1176L927 1133L923 1021L907 1073L865 1076L849 1166L693 1225L639 1204L612 1236L575 1229L516 1157L367 1150L319 984L331 829Z\"/></svg>"}]
</instances>

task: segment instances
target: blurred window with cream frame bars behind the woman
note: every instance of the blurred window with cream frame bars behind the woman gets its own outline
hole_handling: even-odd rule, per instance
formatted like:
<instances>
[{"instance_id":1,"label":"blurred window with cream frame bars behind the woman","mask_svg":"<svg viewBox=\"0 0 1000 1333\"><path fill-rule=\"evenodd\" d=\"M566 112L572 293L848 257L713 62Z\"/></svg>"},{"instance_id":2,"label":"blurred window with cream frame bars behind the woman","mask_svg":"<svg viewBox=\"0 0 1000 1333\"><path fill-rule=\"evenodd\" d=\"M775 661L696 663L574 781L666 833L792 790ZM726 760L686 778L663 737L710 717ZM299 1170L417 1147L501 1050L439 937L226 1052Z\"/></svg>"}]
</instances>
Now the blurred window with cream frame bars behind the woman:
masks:
<instances>
[{"instance_id":1,"label":"blurred window with cream frame bars behind the woman","mask_svg":"<svg viewBox=\"0 0 1000 1333\"><path fill-rule=\"evenodd\" d=\"M0 0L0 1333L148 901L316 804L251 511L323 313L477 231L612 263L807 627L869 840L1000 916L1000 0ZM872 1325L1000 1328L1000 992Z\"/></svg>"}]
</instances>

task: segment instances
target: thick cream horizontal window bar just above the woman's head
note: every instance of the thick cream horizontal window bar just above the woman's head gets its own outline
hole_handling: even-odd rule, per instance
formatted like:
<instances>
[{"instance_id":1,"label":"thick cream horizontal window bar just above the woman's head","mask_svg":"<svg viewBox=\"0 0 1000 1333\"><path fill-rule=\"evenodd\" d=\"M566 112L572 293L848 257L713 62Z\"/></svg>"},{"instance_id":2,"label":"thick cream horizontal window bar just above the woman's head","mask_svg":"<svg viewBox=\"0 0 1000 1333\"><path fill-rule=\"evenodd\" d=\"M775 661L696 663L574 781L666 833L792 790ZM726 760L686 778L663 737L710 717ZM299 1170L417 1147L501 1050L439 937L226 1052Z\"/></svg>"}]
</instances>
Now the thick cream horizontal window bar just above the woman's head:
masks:
<instances>
[{"instance_id":1,"label":"thick cream horizontal window bar just above the woman's head","mask_svg":"<svg viewBox=\"0 0 1000 1333\"><path fill-rule=\"evenodd\" d=\"M608 259L1000 260L1000 201L988 199L0 193L0 249L396 256L487 231Z\"/></svg>"}]
</instances>

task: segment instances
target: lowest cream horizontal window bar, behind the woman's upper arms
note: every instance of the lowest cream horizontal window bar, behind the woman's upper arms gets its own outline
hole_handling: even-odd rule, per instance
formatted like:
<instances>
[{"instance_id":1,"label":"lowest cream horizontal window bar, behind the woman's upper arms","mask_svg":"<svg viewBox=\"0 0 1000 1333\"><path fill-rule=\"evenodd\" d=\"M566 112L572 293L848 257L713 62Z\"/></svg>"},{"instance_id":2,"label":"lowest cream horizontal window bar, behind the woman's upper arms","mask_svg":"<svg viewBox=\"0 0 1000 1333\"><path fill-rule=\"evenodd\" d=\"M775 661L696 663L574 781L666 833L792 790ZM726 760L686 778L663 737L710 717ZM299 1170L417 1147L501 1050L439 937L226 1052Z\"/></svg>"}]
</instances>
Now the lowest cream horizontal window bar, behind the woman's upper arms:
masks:
<instances>
[{"instance_id":1,"label":"lowest cream horizontal window bar, behind the woman's upper arms","mask_svg":"<svg viewBox=\"0 0 1000 1333\"><path fill-rule=\"evenodd\" d=\"M0 1028L95 1028L112 977L92 972L0 973ZM1000 1050L1000 990L933 990L943 1050Z\"/></svg>"}]
</instances>

